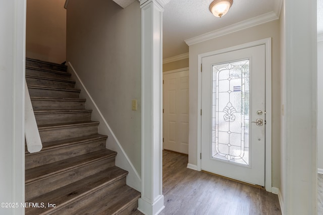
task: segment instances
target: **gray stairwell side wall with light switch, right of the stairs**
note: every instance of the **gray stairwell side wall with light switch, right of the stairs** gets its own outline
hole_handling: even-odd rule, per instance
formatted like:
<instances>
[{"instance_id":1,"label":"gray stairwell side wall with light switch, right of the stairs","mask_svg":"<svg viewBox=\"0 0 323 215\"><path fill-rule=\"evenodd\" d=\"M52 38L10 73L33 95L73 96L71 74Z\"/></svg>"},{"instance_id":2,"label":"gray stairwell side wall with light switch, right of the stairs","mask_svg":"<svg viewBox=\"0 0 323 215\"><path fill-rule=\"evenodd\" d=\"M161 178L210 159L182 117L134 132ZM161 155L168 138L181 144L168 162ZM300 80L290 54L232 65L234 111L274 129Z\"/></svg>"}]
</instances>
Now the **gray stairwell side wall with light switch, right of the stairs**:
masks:
<instances>
[{"instance_id":1,"label":"gray stairwell side wall with light switch, right of the stairs","mask_svg":"<svg viewBox=\"0 0 323 215\"><path fill-rule=\"evenodd\" d=\"M141 12L112 0L70 0L67 61L141 175ZM137 110L131 101L137 100ZM109 146L109 138L107 145Z\"/></svg>"}]
</instances>

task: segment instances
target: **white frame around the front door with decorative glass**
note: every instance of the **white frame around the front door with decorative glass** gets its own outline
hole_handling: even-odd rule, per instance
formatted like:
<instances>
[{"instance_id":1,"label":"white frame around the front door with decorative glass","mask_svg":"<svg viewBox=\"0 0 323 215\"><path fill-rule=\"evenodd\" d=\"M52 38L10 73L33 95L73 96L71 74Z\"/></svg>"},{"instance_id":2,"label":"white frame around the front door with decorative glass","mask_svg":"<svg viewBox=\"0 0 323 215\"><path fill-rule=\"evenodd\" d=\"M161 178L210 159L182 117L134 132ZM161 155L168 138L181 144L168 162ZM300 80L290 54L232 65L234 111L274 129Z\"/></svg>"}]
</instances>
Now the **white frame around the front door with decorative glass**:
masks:
<instances>
[{"instance_id":1,"label":"white frame around the front door with decorative glass","mask_svg":"<svg viewBox=\"0 0 323 215\"><path fill-rule=\"evenodd\" d=\"M198 65L202 65L202 58L222 54L257 45L265 45L265 189L272 192L272 38L265 38L249 43L244 43L229 48L199 54ZM201 69L201 68L200 68ZM202 69L197 71L197 110L202 108ZM201 114L197 114L197 170L201 171Z\"/></svg>"}]
</instances>

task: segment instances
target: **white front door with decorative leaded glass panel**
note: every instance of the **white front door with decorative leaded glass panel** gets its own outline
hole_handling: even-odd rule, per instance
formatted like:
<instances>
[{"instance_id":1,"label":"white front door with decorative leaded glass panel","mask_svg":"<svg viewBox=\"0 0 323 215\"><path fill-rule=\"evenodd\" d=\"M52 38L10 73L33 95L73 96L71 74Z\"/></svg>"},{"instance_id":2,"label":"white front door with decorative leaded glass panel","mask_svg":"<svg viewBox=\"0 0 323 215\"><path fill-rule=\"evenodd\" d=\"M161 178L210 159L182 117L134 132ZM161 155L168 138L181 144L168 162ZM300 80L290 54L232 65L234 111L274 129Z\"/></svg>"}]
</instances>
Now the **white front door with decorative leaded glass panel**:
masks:
<instances>
[{"instance_id":1,"label":"white front door with decorative leaded glass panel","mask_svg":"<svg viewBox=\"0 0 323 215\"><path fill-rule=\"evenodd\" d=\"M264 186L265 45L202 58L201 169Z\"/></svg>"}]
</instances>

